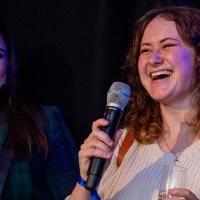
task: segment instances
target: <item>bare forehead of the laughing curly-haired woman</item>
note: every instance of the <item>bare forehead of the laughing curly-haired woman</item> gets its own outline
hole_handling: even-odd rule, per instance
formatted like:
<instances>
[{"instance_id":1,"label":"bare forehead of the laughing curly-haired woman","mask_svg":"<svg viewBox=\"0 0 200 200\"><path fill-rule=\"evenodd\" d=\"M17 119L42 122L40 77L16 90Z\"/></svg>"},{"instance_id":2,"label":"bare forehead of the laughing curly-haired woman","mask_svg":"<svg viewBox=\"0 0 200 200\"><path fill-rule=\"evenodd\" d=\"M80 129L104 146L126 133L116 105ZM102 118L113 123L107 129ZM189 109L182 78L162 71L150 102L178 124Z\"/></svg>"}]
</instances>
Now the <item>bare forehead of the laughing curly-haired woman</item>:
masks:
<instances>
[{"instance_id":1,"label":"bare forehead of the laughing curly-haired woman","mask_svg":"<svg viewBox=\"0 0 200 200\"><path fill-rule=\"evenodd\" d=\"M162 40L163 38L180 39L174 21L168 21L160 16L154 18L146 27L142 41Z\"/></svg>"}]
</instances>

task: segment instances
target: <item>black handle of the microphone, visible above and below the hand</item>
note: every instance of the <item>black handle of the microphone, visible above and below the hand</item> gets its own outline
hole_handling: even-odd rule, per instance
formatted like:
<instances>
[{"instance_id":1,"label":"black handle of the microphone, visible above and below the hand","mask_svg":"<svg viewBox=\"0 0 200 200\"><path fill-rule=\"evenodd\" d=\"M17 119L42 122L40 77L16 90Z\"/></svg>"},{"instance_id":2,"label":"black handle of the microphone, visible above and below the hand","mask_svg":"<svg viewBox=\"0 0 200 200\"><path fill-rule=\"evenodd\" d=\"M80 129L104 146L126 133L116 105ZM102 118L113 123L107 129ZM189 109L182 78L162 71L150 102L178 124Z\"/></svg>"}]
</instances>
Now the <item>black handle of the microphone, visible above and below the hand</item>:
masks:
<instances>
[{"instance_id":1,"label":"black handle of the microphone, visible above and below the hand","mask_svg":"<svg viewBox=\"0 0 200 200\"><path fill-rule=\"evenodd\" d=\"M121 118L121 113L122 111L119 108L112 106L106 107L103 118L109 121L109 125L106 127L102 127L101 130L109 135L110 138L113 138L113 135L117 129L119 120ZM91 158L90 166L88 168L88 178L85 186L87 190L95 190L95 188L98 186L105 165L105 161L106 159L104 158Z\"/></svg>"}]
</instances>

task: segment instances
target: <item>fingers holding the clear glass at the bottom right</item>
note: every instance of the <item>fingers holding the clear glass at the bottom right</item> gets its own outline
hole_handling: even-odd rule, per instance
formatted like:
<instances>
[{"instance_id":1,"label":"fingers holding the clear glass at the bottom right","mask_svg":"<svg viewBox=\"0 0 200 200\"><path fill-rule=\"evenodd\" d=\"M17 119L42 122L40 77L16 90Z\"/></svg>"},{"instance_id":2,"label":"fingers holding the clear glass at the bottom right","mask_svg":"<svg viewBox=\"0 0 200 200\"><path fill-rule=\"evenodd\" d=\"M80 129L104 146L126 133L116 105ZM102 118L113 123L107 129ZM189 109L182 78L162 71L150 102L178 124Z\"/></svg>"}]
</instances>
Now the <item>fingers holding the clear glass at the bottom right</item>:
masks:
<instances>
[{"instance_id":1,"label":"fingers holding the clear glass at the bottom right","mask_svg":"<svg viewBox=\"0 0 200 200\"><path fill-rule=\"evenodd\" d=\"M199 200L190 190L182 188L174 188L168 190L169 194L178 197L185 197L186 200Z\"/></svg>"}]
</instances>

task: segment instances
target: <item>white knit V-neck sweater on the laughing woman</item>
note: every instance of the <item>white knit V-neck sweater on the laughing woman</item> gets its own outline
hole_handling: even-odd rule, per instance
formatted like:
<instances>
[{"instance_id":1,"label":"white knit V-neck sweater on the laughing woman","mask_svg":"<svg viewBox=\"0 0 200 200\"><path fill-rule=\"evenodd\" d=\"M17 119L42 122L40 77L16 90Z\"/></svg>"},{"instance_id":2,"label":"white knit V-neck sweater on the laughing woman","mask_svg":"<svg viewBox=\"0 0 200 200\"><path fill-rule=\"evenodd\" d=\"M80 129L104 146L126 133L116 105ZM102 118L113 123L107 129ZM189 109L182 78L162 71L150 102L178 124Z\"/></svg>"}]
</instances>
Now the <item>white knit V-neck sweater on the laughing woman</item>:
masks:
<instances>
[{"instance_id":1,"label":"white knit V-neck sweater on the laughing woman","mask_svg":"<svg viewBox=\"0 0 200 200\"><path fill-rule=\"evenodd\" d=\"M158 143L142 145L134 141L121 166L116 159L122 139L105 171L98 193L102 200L158 200L158 188L164 165L174 165L175 156L163 152ZM200 141L179 154L179 166L187 168L187 188L200 198Z\"/></svg>"}]
</instances>

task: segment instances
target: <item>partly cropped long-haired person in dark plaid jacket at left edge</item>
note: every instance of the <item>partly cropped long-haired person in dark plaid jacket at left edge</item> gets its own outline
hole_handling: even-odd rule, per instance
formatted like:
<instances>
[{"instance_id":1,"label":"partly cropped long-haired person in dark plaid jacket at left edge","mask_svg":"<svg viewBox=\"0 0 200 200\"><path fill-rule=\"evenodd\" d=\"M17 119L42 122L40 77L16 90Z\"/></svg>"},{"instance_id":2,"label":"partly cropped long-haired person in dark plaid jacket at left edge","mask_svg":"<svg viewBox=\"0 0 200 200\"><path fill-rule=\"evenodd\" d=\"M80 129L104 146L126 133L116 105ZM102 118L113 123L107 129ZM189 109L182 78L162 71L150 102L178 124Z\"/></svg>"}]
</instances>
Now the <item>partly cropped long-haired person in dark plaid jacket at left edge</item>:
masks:
<instances>
[{"instance_id":1,"label":"partly cropped long-haired person in dark plaid jacket at left edge","mask_svg":"<svg viewBox=\"0 0 200 200\"><path fill-rule=\"evenodd\" d=\"M0 199L64 199L78 175L61 111L25 102L9 33L0 22Z\"/></svg>"}]
</instances>

